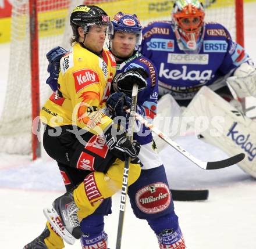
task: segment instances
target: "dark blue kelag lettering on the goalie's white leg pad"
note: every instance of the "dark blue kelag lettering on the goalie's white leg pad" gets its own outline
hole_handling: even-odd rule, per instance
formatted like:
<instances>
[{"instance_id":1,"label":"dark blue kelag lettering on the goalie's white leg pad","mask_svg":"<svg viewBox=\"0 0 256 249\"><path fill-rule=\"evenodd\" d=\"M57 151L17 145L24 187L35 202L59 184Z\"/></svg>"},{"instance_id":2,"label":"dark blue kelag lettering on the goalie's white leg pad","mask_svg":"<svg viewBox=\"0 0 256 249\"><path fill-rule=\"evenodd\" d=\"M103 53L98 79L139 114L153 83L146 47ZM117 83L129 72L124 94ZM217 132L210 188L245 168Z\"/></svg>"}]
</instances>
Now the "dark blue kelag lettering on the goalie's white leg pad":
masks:
<instances>
[{"instance_id":1,"label":"dark blue kelag lettering on the goalie's white leg pad","mask_svg":"<svg viewBox=\"0 0 256 249\"><path fill-rule=\"evenodd\" d=\"M236 131L235 128L237 126L237 122L234 122L232 127L229 129L227 136L230 137L236 145L240 146L241 149L246 151L248 160L253 161L256 156L256 146L250 142L250 134L243 135Z\"/></svg>"}]
</instances>

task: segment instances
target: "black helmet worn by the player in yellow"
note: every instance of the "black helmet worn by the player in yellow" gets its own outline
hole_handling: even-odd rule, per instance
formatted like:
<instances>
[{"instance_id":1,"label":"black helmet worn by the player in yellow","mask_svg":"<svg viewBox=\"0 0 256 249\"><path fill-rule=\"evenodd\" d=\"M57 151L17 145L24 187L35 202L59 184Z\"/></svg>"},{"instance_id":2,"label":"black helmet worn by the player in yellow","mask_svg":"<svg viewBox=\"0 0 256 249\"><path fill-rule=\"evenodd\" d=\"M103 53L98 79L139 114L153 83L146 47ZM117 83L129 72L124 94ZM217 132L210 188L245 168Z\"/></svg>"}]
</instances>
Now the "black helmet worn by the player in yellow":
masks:
<instances>
[{"instance_id":1,"label":"black helmet worn by the player in yellow","mask_svg":"<svg viewBox=\"0 0 256 249\"><path fill-rule=\"evenodd\" d=\"M74 36L78 35L77 28L82 27L84 33L88 33L90 27L94 25L106 25L109 27L109 32L113 30L110 17L98 6L79 5L74 8L70 15L70 26Z\"/></svg>"}]
</instances>

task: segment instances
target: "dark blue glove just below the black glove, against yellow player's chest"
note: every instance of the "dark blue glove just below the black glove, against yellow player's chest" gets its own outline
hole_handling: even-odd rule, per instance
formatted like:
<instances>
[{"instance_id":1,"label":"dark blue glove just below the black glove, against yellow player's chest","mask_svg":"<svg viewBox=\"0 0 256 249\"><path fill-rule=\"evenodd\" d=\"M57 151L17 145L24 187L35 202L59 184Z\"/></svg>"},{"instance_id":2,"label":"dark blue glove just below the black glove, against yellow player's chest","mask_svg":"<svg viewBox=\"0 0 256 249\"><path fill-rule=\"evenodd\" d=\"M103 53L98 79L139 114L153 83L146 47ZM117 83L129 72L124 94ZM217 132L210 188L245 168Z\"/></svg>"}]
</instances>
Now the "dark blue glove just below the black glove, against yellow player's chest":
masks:
<instances>
[{"instance_id":1,"label":"dark blue glove just below the black glove, against yellow player's chest","mask_svg":"<svg viewBox=\"0 0 256 249\"><path fill-rule=\"evenodd\" d=\"M128 119L125 109L131 108L131 98L126 96L125 93L115 92L106 100L106 107L112 117L123 116Z\"/></svg>"}]
</instances>

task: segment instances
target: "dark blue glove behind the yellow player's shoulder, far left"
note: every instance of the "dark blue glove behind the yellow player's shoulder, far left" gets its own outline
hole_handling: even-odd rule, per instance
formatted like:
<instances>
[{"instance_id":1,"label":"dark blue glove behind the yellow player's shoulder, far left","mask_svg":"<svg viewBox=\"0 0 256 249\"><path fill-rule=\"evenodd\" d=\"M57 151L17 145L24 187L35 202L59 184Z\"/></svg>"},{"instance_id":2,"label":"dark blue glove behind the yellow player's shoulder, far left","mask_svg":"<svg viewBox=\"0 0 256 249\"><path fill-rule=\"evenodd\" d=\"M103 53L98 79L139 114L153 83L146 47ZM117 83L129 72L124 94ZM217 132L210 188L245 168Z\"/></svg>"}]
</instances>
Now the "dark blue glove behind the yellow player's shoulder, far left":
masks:
<instances>
[{"instance_id":1,"label":"dark blue glove behind the yellow player's shoulder, far left","mask_svg":"<svg viewBox=\"0 0 256 249\"><path fill-rule=\"evenodd\" d=\"M57 91L58 89L58 77L59 77L59 62L61 57L64 56L68 51L63 49L61 46L56 46L50 50L46 57L48 59L49 65L47 68L50 76L46 80L46 84L51 86L52 91Z\"/></svg>"}]
</instances>

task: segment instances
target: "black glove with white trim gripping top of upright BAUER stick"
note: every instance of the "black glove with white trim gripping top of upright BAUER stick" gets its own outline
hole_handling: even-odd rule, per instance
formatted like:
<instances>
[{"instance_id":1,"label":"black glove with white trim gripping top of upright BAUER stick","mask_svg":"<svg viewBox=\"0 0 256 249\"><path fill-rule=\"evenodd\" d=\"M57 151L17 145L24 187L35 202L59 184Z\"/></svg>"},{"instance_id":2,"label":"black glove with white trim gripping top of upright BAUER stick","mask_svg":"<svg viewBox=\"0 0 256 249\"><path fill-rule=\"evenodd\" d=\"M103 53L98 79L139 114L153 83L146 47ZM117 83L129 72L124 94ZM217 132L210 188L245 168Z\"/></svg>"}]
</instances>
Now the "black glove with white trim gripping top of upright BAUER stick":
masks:
<instances>
[{"instance_id":1,"label":"black glove with white trim gripping top of upright BAUER stick","mask_svg":"<svg viewBox=\"0 0 256 249\"><path fill-rule=\"evenodd\" d=\"M124 92L127 96L131 96L134 84L138 85L138 92L147 87L148 76L147 71L142 67L131 68L113 78L113 89L115 92Z\"/></svg>"}]
</instances>

